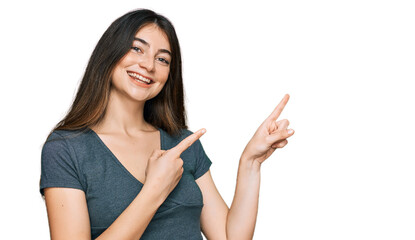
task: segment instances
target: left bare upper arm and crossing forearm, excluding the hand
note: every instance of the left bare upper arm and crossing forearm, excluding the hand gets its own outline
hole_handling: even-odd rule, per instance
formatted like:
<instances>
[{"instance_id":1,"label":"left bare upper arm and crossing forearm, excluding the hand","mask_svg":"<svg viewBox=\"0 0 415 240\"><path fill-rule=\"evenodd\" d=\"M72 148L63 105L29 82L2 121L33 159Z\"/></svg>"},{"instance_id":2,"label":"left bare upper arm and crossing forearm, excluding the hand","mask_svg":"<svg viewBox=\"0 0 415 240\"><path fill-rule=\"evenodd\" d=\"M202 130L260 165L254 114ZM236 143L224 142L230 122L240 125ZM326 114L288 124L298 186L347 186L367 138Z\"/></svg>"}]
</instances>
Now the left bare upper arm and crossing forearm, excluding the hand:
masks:
<instances>
[{"instance_id":1,"label":"left bare upper arm and crossing forearm, excluding the hand","mask_svg":"<svg viewBox=\"0 0 415 240\"><path fill-rule=\"evenodd\" d=\"M91 239L88 208L82 190L46 188L45 200L51 239ZM133 202L97 239L139 239L161 205L161 200L143 187Z\"/></svg>"}]
</instances>

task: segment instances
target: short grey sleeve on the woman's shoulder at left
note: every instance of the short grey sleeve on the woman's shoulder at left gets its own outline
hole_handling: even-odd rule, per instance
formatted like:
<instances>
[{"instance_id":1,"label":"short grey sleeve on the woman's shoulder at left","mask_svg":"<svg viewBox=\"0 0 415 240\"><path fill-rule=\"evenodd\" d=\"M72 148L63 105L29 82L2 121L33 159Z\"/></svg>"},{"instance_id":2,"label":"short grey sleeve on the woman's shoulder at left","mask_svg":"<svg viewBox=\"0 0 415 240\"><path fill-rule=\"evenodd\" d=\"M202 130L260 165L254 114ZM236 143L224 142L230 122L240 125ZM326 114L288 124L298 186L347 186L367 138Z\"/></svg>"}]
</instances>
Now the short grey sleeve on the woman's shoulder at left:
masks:
<instances>
[{"instance_id":1,"label":"short grey sleeve on the woman's shoulder at left","mask_svg":"<svg viewBox=\"0 0 415 240\"><path fill-rule=\"evenodd\" d=\"M84 190L79 178L79 166L67 140L53 132L42 148L40 193L47 187Z\"/></svg>"}]
</instances>

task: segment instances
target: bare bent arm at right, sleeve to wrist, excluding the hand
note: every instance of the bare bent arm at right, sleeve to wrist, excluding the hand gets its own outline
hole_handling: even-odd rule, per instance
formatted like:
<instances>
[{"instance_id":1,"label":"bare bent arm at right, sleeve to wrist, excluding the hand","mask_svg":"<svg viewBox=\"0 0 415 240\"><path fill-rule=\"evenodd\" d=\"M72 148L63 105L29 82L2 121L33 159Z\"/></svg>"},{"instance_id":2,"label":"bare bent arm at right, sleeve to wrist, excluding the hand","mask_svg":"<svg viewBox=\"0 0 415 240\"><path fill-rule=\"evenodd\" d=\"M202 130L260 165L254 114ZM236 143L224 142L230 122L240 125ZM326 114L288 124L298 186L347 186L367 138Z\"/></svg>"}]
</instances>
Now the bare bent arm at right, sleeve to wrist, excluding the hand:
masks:
<instances>
[{"instance_id":1,"label":"bare bent arm at right, sleeve to wrist, excluding the hand","mask_svg":"<svg viewBox=\"0 0 415 240\"><path fill-rule=\"evenodd\" d=\"M252 239L258 211L259 169L241 159L230 209L216 189L210 171L196 183L203 194L200 222L207 239Z\"/></svg>"}]
</instances>

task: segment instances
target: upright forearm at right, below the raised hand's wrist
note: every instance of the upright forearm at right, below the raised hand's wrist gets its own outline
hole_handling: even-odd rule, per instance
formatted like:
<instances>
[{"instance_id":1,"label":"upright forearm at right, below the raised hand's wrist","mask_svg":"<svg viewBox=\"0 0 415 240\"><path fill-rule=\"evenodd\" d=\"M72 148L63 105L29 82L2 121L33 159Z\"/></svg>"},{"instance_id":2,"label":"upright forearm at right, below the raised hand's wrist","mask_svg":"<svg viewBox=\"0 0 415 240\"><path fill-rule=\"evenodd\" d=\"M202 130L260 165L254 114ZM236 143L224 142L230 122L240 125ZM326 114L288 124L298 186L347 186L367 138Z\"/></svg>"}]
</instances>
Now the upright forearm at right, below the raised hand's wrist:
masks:
<instances>
[{"instance_id":1,"label":"upright forearm at right, below the raised hand's wrist","mask_svg":"<svg viewBox=\"0 0 415 240\"><path fill-rule=\"evenodd\" d=\"M252 239L258 213L260 176L258 162L241 158L235 195L226 223L228 239Z\"/></svg>"}]
</instances>

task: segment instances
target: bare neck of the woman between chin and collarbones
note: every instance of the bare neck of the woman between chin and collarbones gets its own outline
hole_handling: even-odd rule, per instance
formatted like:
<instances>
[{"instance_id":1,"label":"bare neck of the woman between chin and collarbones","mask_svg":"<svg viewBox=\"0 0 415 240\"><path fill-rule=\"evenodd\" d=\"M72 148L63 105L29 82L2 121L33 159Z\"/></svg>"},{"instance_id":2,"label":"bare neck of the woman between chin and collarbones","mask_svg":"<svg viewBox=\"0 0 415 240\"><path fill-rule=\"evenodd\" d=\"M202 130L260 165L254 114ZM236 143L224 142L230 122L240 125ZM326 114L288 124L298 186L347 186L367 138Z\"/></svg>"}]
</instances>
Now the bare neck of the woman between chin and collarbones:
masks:
<instances>
[{"instance_id":1,"label":"bare neck of the woman between chin and collarbones","mask_svg":"<svg viewBox=\"0 0 415 240\"><path fill-rule=\"evenodd\" d=\"M144 104L145 101L138 102L111 90L105 116L93 127L94 131L130 136L154 131L155 128L144 120Z\"/></svg>"}]
</instances>

